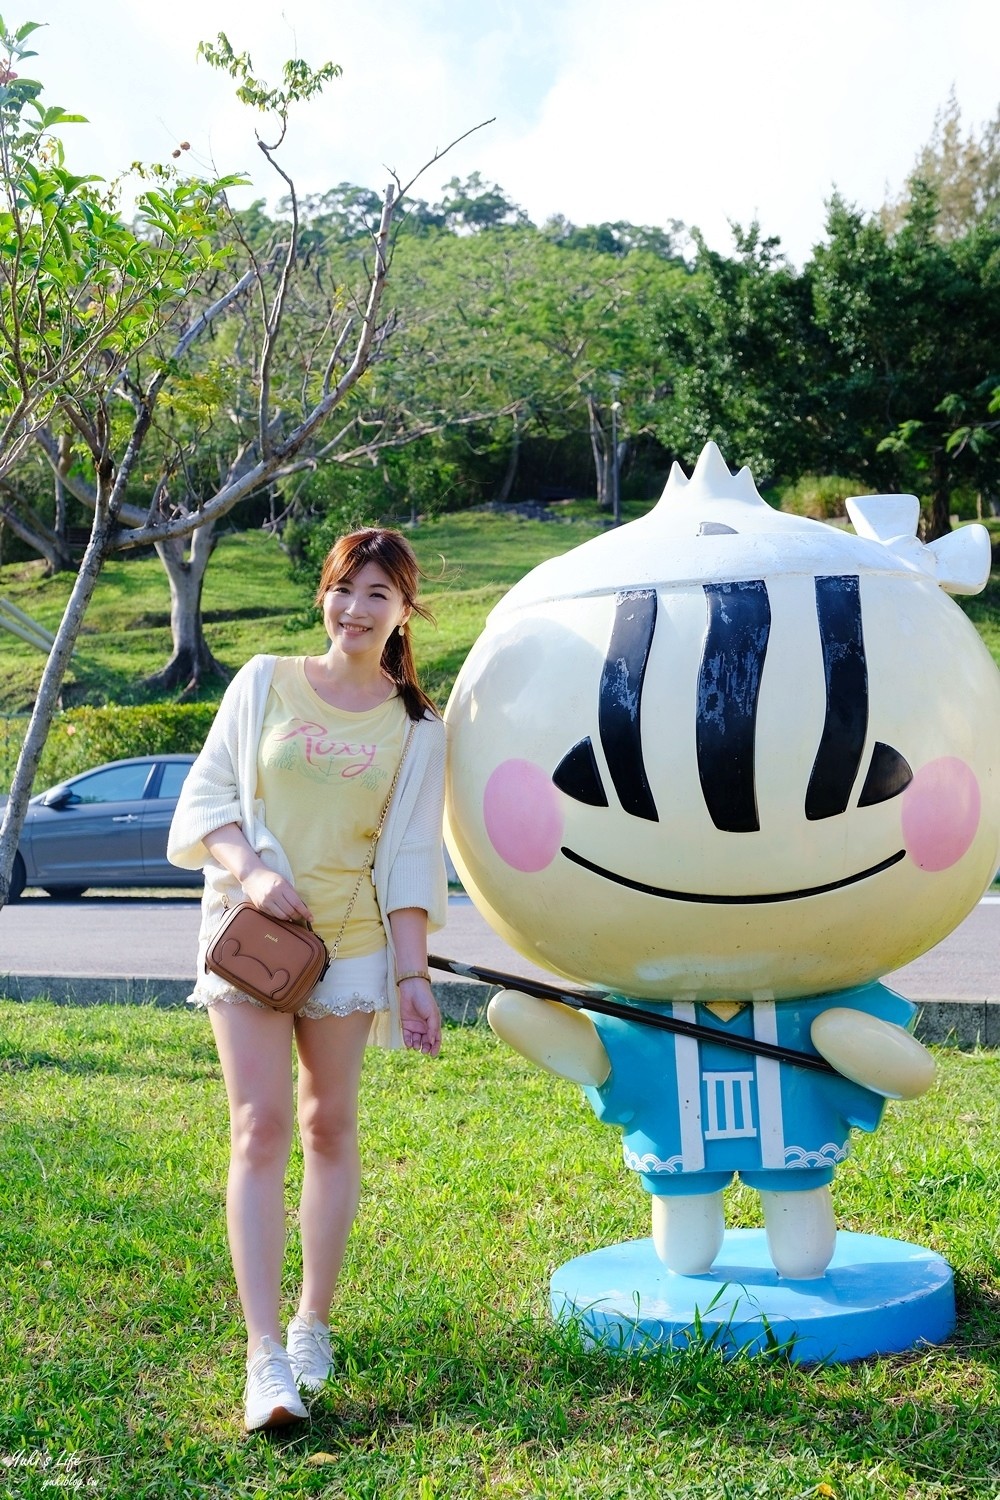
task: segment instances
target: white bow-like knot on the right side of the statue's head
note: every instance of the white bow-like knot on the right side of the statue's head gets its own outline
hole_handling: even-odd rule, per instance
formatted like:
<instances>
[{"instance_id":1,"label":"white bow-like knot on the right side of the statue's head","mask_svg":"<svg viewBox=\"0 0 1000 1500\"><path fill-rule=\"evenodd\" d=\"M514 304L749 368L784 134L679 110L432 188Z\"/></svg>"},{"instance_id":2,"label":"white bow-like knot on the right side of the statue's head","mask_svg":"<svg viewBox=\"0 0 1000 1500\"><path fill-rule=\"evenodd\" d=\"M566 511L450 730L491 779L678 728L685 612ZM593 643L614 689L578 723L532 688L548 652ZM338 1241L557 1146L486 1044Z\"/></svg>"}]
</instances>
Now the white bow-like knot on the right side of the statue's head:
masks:
<instances>
[{"instance_id":1,"label":"white bow-like knot on the right side of the statue's head","mask_svg":"<svg viewBox=\"0 0 1000 1500\"><path fill-rule=\"evenodd\" d=\"M991 546L985 526L960 526L925 544L916 536L921 519L916 495L856 495L846 504L859 537L880 542L895 556L919 567L946 594L979 594L990 582Z\"/></svg>"}]
</instances>

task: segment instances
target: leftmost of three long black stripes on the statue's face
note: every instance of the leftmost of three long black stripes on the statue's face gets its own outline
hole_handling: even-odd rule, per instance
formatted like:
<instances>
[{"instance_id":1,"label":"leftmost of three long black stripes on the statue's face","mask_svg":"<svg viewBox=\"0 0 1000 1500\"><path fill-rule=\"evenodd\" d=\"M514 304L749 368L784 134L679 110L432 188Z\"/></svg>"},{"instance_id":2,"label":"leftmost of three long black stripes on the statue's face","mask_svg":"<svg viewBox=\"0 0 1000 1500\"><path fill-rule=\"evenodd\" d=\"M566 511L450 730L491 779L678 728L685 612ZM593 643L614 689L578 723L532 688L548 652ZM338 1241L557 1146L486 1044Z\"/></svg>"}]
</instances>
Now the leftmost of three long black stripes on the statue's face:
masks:
<instances>
[{"instance_id":1,"label":"leftmost of three long black stripes on the statue's face","mask_svg":"<svg viewBox=\"0 0 1000 1500\"><path fill-rule=\"evenodd\" d=\"M615 624L601 672L598 728L618 801L634 818L660 822L642 758L642 680L657 626L655 590L615 596Z\"/></svg>"}]
</instances>

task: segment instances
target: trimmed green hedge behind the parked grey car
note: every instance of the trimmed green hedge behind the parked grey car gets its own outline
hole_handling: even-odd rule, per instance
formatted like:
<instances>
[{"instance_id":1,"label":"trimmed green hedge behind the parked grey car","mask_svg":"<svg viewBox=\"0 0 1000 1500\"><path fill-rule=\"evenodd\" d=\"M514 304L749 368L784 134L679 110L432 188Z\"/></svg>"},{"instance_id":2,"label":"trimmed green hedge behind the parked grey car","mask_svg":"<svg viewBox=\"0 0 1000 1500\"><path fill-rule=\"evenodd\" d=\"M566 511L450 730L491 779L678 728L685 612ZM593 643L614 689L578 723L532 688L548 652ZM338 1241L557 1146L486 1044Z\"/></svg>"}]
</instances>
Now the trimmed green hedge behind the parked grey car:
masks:
<instances>
[{"instance_id":1,"label":"trimmed green hedge behind the parked grey car","mask_svg":"<svg viewBox=\"0 0 1000 1500\"><path fill-rule=\"evenodd\" d=\"M217 704L141 704L135 706L69 708L54 717L34 778L34 790L105 760L133 754L196 754ZM25 717L0 718L0 790L10 778L27 729Z\"/></svg>"}]
</instances>

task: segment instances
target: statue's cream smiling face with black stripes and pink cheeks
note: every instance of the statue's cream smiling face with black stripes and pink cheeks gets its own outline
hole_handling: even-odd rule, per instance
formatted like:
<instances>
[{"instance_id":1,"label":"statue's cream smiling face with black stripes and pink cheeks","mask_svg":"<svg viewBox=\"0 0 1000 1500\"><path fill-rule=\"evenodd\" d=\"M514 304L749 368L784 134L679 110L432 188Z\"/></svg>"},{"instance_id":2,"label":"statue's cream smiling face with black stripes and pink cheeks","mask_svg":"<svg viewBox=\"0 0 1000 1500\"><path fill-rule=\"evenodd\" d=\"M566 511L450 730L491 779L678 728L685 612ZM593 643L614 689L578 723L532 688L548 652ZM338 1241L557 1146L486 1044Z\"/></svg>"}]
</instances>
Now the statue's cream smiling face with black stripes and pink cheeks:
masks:
<instances>
[{"instance_id":1,"label":"statue's cream smiling face with black stripes and pink cheeks","mask_svg":"<svg viewBox=\"0 0 1000 1500\"><path fill-rule=\"evenodd\" d=\"M498 612L448 705L448 842L523 954L646 998L835 990L997 864L997 674L930 579L777 572Z\"/></svg>"}]
</instances>

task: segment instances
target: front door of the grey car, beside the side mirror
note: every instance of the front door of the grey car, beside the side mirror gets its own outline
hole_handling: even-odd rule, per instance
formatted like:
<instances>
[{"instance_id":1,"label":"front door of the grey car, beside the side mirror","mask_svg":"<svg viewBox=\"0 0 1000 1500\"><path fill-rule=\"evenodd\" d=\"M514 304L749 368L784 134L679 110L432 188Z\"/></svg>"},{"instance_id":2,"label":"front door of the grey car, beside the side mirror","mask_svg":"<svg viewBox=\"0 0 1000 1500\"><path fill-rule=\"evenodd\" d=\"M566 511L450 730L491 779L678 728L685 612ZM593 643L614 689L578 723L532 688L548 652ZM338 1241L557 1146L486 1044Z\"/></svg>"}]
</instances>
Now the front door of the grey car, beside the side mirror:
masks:
<instances>
[{"instance_id":1,"label":"front door of the grey car, beside the side mirror","mask_svg":"<svg viewBox=\"0 0 1000 1500\"><path fill-rule=\"evenodd\" d=\"M153 760L102 766L66 783L58 806L36 804L30 842L34 884L136 885L142 879L142 794Z\"/></svg>"}]
</instances>

